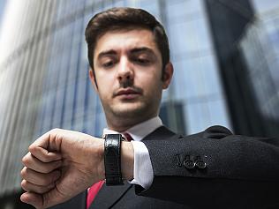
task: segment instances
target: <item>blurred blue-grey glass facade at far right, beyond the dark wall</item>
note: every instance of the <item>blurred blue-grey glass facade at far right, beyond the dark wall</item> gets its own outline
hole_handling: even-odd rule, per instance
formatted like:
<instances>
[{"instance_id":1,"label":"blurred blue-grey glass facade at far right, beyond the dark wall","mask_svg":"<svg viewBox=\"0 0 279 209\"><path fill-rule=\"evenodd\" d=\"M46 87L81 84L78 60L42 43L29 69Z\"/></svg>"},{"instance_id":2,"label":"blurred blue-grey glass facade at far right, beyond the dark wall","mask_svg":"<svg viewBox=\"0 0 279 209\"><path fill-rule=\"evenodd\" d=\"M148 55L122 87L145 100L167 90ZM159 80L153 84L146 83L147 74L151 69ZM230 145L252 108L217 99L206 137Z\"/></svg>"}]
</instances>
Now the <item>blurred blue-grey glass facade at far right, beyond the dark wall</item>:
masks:
<instances>
[{"instance_id":1,"label":"blurred blue-grey glass facade at far right, beyond the dark wall","mask_svg":"<svg viewBox=\"0 0 279 209\"><path fill-rule=\"evenodd\" d=\"M279 2L253 1L255 19L239 43L253 89L257 113L268 136L278 136L279 125Z\"/></svg>"}]
</instances>

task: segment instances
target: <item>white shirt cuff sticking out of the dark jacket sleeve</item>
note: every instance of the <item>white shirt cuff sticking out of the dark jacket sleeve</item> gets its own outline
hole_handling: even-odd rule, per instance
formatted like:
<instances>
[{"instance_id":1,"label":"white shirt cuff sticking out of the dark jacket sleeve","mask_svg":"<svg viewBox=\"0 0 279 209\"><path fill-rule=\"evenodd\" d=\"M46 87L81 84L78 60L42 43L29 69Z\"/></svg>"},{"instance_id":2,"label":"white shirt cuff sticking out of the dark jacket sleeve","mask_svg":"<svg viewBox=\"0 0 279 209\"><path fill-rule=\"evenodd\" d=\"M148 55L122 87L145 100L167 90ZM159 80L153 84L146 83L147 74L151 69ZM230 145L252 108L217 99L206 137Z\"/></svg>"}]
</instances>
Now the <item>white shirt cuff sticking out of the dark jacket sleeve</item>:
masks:
<instances>
[{"instance_id":1,"label":"white shirt cuff sticking out of the dark jacket sleeve","mask_svg":"<svg viewBox=\"0 0 279 209\"><path fill-rule=\"evenodd\" d=\"M140 141L131 141L134 151L133 179L128 181L148 189L153 182L154 173L147 146Z\"/></svg>"}]
</instances>

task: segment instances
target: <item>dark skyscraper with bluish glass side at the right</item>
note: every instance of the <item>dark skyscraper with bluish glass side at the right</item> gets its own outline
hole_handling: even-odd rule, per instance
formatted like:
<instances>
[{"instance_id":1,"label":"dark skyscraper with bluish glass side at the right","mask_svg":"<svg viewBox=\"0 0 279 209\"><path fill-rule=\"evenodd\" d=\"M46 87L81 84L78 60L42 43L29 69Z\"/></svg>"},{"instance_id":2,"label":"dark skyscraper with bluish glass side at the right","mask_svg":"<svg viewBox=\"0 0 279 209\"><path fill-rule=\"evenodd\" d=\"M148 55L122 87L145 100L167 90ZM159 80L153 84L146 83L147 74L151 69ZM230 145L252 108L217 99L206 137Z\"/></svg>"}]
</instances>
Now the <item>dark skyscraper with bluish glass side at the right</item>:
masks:
<instances>
[{"instance_id":1,"label":"dark skyscraper with bluish glass side at the right","mask_svg":"<svg viewBox=\"0 0 279 209\"><path fill-rule=\"evenodd\" d=\"M278 5L207 0L222 84L238 134L279 136Z\"/></svg>"}]
</instances>

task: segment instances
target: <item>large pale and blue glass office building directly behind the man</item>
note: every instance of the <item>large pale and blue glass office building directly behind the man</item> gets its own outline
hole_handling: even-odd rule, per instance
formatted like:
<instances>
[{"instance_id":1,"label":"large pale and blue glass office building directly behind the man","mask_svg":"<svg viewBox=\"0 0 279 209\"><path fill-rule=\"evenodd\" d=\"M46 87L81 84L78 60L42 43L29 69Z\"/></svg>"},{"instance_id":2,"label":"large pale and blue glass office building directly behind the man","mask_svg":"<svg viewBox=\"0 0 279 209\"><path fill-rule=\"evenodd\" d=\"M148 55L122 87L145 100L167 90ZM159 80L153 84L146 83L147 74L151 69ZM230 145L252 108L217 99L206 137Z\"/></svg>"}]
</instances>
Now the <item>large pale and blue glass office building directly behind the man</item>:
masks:
<instances>
[{"instance_id":1,"label":"large pale and blue glass office building directly behind the man","mask_svg":"<svg viewBox=\"0 0 279 209\"><path fill-rule=\"evenodd\" d=\"M96 12L114 6L143 8L166 28L175 72L160 116L170 129L237 127L206 0L10 0L0 32L0 202L10 208L25 208L13 194L34 139L52 128L102 135L106 121L88 78L84 31Z\"/></svg>"}]
</instances>

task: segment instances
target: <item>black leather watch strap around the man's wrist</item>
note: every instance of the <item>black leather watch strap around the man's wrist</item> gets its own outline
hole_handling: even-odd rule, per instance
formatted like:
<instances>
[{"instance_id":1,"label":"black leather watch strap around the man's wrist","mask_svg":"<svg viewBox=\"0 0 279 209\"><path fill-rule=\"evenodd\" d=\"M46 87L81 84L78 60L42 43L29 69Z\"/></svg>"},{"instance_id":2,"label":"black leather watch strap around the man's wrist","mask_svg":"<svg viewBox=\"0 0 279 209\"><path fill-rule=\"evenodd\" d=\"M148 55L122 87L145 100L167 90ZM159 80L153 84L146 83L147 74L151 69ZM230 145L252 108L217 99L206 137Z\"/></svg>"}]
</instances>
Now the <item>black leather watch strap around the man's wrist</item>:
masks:
<instances>
[{"instance_id":1,"label":"black leather watch strap around the man's wrist","mask_svg":"<svg viewBox=\"0 0 279 209\"><path fill-rule=\"evenodd\" d=\"M106 134L104 136L104 167L106 184L122 185L123 178L121 174L121 134Z\"/></svg>"}]
</instances>

